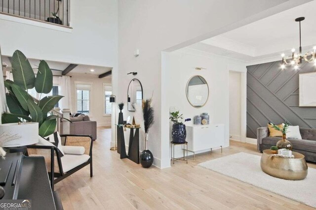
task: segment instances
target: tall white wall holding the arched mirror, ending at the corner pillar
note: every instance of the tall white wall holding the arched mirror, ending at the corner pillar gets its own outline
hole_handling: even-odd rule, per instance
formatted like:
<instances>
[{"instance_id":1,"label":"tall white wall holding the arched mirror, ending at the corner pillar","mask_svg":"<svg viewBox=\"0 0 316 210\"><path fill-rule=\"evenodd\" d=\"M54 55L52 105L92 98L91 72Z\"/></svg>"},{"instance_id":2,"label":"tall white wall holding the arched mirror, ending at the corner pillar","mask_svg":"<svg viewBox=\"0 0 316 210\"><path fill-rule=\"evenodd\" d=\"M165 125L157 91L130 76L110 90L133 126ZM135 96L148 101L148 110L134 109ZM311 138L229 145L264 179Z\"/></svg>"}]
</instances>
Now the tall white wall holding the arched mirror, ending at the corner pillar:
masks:
<instances>
[{"instance_id":1,"label":"tall white wall holding the arched mirror, ending at the corner pillar","mask_svg":"<svg viewBox=\"0 0 316 210\"><path fill-rule=\"evenodd\" d=\"M118 1L119 71L114 72L113 83L118 84L115 92L118 101L127 101L127 85L132 76L126 73L130 71L138 72L136 78L143 84L145 98L151 97L154 90L156 116L150 131L149 149L155 156L155 165L170 166L168 89L165 85L168 72L164 69L165 55L161 52L188 46L307 1ZM136 49L140 50L137 58L133 56Z\"/></svg>"}]
</instances>

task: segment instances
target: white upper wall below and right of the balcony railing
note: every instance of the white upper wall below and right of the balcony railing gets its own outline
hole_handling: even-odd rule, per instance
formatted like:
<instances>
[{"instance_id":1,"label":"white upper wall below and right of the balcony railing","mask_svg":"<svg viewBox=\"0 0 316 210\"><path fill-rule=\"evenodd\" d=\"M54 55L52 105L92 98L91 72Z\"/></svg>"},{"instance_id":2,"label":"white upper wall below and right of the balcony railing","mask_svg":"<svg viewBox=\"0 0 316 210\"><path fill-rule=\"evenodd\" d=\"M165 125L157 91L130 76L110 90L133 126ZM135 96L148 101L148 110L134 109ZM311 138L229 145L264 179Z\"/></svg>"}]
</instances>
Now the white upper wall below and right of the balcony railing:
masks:
<instances>
[{"instance_id":1,"label":"white upper wall below and right of the balcony railing","mask_svg":"<svg viewBox=\"0 0 316 210\"><path fill-rule=\"evenodd\" d=\"M19 49L32 59L117 67L117 0L70 3L71 32L39 27L34 21L32 26L0 18L2 55L12 56Z\"/></svg>"}]
</instances>

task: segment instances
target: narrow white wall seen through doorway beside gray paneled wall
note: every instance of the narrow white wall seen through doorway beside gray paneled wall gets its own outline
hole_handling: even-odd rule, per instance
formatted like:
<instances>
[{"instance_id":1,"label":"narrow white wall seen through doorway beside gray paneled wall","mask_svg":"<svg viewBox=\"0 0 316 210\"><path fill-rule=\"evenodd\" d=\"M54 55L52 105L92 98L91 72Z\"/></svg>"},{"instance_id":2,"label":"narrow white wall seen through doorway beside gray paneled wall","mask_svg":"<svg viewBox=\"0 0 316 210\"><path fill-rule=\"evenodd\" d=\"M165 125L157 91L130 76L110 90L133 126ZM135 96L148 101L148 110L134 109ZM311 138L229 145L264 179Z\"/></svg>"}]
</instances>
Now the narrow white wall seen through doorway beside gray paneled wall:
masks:
<instances>
[{"instance_id":1,"label":"narrow white wall seen through doorway beside gray paneled wall","mask_svg":"<svg viewBox=\"0 0 316 210\"><path fill-rule=\"evenodd\" d=\"M240 141L241 135L241 74L229 71L229 134Z\"/></svg>"}]
</instances>

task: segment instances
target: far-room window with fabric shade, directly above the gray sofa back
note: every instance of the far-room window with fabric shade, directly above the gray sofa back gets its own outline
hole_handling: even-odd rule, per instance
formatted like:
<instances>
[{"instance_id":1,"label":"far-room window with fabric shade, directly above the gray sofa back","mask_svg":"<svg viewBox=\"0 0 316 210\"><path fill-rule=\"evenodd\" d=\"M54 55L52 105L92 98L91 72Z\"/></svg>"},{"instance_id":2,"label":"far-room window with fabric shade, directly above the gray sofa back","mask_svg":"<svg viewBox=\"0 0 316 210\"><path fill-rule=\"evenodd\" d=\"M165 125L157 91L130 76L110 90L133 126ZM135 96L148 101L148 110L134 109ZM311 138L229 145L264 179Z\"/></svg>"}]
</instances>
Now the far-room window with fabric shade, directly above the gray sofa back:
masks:
<instances>
[{"instance_id":1,"label":"far-room window with fabric shade, directly above the gray sofa back","mask_svg":"<svg viewBox=\"0 0 316 210\"><path fill-rule=\"evenodd\" d=\"M88 115L90 113L91 85L77 84L77 112Z\"/></svg>"}]
</instances>

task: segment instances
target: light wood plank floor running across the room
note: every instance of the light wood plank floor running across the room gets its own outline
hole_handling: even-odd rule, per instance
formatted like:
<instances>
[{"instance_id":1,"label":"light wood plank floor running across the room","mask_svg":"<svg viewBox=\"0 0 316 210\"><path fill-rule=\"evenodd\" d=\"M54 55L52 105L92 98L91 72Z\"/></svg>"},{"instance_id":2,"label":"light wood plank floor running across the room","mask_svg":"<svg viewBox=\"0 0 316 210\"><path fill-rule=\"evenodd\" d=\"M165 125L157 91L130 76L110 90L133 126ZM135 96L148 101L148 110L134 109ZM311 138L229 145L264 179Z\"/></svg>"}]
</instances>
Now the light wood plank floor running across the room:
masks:
<instances>
[{"instance_id":1,"label":"light wood plank floor running across the room","mask_svg":"<svg viewBox=\"0 0 316 210\"><path fill-rule=\"evenodd\" d=\"M189 157L188 164L177 161L171 168L160 170L144 169L128 159L119 159L116 151L109 150L110 136L111 129L98 128L93 145L93 178L86 166L55 185L65 210L313 209L197 166L241 151L260 155L255 145L231 141L223 153L213 150L197 154L196 160Z\"/></svg>"}]
</instances>

